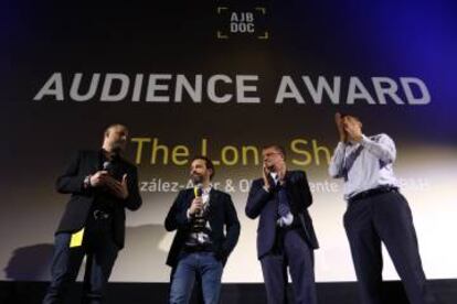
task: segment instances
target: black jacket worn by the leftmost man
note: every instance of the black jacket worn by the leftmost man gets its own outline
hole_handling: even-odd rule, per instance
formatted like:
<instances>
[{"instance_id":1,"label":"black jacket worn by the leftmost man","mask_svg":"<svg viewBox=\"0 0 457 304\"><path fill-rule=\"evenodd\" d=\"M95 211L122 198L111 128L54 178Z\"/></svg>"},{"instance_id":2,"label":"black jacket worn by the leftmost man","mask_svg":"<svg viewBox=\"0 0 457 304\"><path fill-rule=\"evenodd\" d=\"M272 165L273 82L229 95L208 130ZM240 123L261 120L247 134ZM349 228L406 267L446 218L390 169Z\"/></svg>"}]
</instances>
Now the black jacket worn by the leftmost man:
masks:
<instances>
[{"instance_id":1,"label":"black jacket worn by the leftmost man","mask_svg":"<svg viewBox=\"0 0 457 304\"><path fill-rule=\"evenodd\" d=\"M102 170L102 151L78 151L75 153L65 172L57 178L55 187L57 192L71 194L65 211L57 227L59 232L74 232L85 226L89 216L97 188L85 188L84 178ZM119 171L127 174L128 197L126 199L109 196L113 200L113 232L116 245L124 247L125 239L125 208L136 210L141 206L141 197L138 189L138 176L135 165L119 158Z\"/></svg>"}]
</instances>

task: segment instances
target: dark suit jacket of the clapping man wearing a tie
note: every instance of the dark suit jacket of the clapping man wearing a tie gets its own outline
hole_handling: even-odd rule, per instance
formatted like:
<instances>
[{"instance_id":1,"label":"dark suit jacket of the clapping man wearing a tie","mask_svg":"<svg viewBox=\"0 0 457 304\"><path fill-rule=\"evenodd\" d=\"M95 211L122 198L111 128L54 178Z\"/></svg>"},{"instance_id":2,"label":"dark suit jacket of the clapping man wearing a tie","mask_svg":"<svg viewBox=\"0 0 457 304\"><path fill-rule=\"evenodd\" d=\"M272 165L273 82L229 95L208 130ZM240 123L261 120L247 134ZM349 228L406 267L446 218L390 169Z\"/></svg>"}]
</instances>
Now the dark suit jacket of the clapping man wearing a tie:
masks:
<instances>
[{"instance_id":1,"label":"dark suit jacket of the clapping man wearing a tie","mask_svg":"<svg viewBox=\"0 0 457 304\"><path fill-rule=\"evenodd\" d=\"M306 173L302 171L287 171L285 182L290 211L294 215L294 225L297 225L302 230L308 245L312 249L317 249L319 243L307 209L312 204L312 196ZM272 250L276 238L276 220L278 219L277 193L275 191L266 192L263 187L263 178L253 182L245 209L247 217L253 219L261 217L257 228L258 259L262 259Z\"/></svg>"}]
</instances>

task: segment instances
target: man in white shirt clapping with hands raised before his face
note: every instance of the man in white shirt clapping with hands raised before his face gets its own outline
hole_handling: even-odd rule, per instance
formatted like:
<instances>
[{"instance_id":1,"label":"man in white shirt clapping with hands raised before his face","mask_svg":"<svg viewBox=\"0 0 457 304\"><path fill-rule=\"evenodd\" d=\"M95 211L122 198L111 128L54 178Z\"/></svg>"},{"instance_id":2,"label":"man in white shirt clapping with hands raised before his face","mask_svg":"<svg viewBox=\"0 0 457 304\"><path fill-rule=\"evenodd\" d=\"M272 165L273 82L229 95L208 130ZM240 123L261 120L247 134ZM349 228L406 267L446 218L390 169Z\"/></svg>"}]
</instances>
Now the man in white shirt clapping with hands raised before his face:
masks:
<instances>
[{"instance_id":1,"label":"man in white shirt clapping with hands raised before his face","mask_svg":"<svg viewBox=\"0 0 457 304\"><path fill-rule=\"evenodd\" d=\"M365 137L362 122L336 113L340 141L329 174L344 180L344 228L359 281L361 303L382 303L383 242L412 304L436 303L427 291L410 206L393 172L395 143L384 134Z\"/></svg>"}]
</instances>

